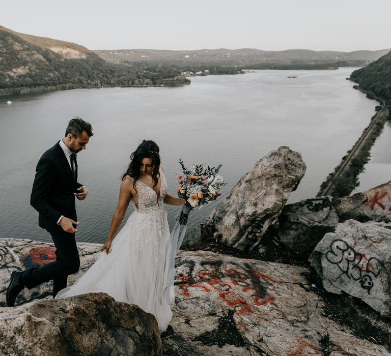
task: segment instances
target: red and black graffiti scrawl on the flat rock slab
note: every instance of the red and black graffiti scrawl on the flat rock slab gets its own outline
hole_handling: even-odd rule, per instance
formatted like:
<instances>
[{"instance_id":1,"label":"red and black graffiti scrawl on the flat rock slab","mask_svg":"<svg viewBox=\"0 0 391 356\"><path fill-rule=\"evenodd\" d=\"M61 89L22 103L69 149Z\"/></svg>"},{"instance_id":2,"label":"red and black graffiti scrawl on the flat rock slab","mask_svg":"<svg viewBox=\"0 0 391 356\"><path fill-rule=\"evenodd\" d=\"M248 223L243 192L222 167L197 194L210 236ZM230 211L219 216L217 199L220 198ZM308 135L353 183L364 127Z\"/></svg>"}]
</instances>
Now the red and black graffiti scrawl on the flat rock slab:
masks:
<instances>
[{"instance_id":1,"label":"red and black graffiti scrawl on the flat rock slab","mask_svg":"<svg viewBox=\"0 0 391 356\"><path fill-rule=\"evenodd\" d=\"M256 270L249 263L229 262L222 268L223 261L202 261L196 269L193 260L183 260L178 266L185 268L186 273L179 276L178 285L184 296L191 295L190 288L203 292L217 292L221 301L230 307L237 307L239 314L252 311L253 306L262 306L273 302L266 292L266 284L275 281ZM238 293L238 291L240 291ZM249 293L249 296L245 296Z\"/></svg>"}]
</instances>

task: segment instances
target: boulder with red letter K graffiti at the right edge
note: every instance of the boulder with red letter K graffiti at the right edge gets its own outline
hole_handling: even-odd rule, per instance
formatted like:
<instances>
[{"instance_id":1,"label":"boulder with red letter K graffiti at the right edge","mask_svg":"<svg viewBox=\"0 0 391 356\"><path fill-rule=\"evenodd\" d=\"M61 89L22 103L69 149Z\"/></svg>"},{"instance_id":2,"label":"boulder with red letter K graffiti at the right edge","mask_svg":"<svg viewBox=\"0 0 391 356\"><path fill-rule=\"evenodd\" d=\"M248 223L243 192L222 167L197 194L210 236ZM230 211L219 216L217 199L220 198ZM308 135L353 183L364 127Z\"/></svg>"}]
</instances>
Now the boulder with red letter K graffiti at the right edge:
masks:
<instances>
[{"instance_id":1,"label":"boulder with red letter K graffiti at the right edge","mask_svg":"<svg viewBox=\"0 0 391 356\"><path fill-rule=\"evenodd\" d=\"M333 205L340 219L391 221L391 181L352 196L335 199Z\"/></svg>"}]
</instances>

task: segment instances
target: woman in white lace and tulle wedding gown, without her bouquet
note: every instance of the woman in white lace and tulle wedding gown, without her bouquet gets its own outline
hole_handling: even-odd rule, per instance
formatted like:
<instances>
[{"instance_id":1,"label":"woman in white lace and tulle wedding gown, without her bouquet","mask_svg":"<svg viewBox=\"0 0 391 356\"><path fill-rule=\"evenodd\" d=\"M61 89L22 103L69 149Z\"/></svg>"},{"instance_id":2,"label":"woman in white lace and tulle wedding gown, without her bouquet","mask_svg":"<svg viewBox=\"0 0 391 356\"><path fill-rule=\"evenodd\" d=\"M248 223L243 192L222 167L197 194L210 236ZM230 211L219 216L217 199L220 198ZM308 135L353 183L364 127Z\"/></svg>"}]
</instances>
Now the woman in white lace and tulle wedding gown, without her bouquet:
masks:
<instances>
[{"instance_id":1,"label":"woman in white lace and tulle wedding gown, without her bouquet","mask_svg":"<svg viewBox=\"0 0 391 356\"><path fill-rule=\"evenodd\" d=\"M108 237L102 246L106 253L102 253L83 276L72 286L62 289L56 298L105 292L118 302L136 304L152 313L159 331L163 332L171 321L174 304L174 286L166 288L171 242L163 203L183 205L185 200L167 194L159 147L154 141L144 140L130 159L122 177ZM130 200L134 212L114 239Z\"/></svg>"}]
</instances>

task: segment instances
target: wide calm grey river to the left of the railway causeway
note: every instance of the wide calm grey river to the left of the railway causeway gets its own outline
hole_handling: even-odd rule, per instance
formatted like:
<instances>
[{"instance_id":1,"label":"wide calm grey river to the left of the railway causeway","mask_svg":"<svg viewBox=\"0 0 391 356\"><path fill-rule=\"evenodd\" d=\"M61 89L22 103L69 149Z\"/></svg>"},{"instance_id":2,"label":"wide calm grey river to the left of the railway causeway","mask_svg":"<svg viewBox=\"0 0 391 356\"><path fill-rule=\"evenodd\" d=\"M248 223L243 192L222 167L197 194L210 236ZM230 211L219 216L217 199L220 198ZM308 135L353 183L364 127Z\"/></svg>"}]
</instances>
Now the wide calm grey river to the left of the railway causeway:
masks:
<instances>
[{"instance_id":1,"label":"wide calm grey river to the left of the railway causeway","mask_svg":"<svg viewBox=\"0 0 391 356\"><path fill-rule=\"evenodd\" d=\"M120 176L143 138L159 144L171 194L179 158L187 165L222 163L220 174L227 186L221 201L258 159L286 145L301 153L307 165L289 202L314 197L375 113L377 102L346 80L353 70L262 70L193 77L190 85L175 88L0 97L1 237L50 241L29 204L35 166L41 154L64 136L75 115L94 129L87 150L78 155L79 182L89 187L88 198L76 203L78 241L105 240ZM192 212L189 229L204 221L218 202ZM127 215L131 211L132 207ZM168 206L167 211L173 226L178 207Z\"/></svg>"}]
</instances>

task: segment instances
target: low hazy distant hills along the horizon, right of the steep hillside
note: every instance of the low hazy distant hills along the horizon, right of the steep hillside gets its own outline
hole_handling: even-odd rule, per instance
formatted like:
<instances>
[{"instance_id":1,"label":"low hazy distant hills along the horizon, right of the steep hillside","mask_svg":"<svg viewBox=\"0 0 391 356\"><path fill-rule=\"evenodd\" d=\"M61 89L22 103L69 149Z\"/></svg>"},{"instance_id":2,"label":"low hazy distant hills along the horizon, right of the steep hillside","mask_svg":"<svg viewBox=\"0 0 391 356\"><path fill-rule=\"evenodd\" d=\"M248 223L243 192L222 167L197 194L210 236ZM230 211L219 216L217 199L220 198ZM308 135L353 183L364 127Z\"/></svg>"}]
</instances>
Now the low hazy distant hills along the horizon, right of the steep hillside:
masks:
<instances>
[{"instance_id":1,"label":"low hazy distant hills along the horizon, right of the steep hillside","mask_svg":"<svg viewBox=\"0 0 391 356\"><path fill-rule=\"evenodd\" d=\"M312 51L290 49L286 51L263 51L259 49L200 49L171 51L156 49L95 50L103 60L110 63L172 63L183 66L236 66L256 69L258 67L321 65L364 66L376 61L390 49L378 51Z\"/></svg>"}]
</instances>

